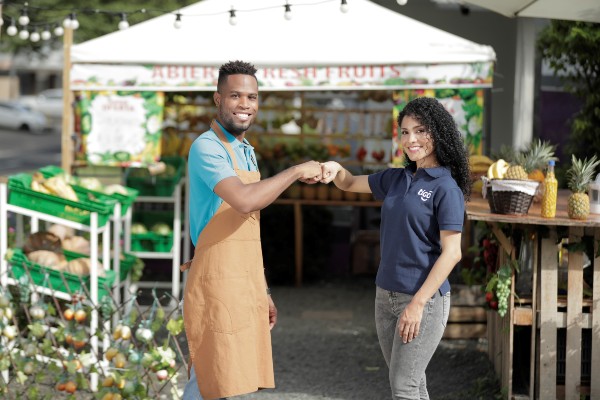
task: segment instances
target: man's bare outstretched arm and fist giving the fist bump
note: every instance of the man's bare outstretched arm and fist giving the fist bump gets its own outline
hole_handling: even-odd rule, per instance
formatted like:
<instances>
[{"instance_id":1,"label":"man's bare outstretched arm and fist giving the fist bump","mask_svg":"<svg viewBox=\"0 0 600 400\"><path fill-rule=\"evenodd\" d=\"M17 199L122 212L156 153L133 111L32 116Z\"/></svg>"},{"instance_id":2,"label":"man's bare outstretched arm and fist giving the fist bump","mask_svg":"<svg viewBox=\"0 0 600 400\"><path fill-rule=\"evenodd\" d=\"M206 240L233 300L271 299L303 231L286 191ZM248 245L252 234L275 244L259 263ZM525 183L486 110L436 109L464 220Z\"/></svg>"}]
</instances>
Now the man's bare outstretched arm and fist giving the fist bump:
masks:
<instances>
[{"instance_id":1,"label":"man's bare outstretched arm and fist giving the fist bump","mask_svg":"<svg viewBox=\"0 0 600 400\"><path fill-rule=\"evenodd\" d=\"M232 176L217 183L214 192L233 209L246 214L265 208L297 180L307 183L320 181L321 165L316 161L307 161L250 184L244 184L237 176Z\"/></svg>"}]
</instances>

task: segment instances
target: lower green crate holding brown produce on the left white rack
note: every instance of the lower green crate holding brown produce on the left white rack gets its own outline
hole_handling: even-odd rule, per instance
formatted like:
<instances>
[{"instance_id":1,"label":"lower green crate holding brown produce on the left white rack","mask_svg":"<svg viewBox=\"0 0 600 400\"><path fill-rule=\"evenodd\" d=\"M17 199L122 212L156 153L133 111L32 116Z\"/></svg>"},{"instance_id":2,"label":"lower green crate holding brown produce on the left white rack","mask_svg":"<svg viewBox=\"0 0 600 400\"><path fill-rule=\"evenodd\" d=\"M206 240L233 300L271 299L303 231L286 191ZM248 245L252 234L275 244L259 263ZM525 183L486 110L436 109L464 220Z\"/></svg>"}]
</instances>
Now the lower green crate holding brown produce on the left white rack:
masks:
<instances>
[{"instance_id":1,"label":"lower green crate holding brown produce on the left white rack","mask_svg":"<svg viewBox=\"0 0 600 400\"><path fill-rule=\"evenodd\" d=\"M84 256L73 252L64 252L64 254L68 261ZM29 270L31 279L39 286L44 285L44 277L48 274L47 285L45 285L45 287L50 289L73 294L81 291L81 285L83 284L88 288L88 291L90 290L89 276L79 276L65 271L59 272L52 268L31 262L27 259L27 256L23 254L21 249L14 249L9 262L12 265L12 272L15 279L19 279L23 275L26 275L27 270ZM105 276L98 277L98 300L111 294L110 288L115 281L115 276L114 271L108 270L105 271Z\"/></svg>"}]
</instances>

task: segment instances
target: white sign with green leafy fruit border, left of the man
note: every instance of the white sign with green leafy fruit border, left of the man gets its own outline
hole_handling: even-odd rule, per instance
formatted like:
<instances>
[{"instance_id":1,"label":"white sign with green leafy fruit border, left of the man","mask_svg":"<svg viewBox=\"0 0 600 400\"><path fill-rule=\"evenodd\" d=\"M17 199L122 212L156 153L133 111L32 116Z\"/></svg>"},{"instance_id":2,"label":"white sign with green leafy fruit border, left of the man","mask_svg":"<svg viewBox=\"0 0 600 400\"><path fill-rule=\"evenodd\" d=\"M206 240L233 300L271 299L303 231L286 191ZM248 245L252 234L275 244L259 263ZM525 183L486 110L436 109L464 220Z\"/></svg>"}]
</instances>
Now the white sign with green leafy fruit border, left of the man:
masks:
<instances>
[{"instance_id":1,"label":"white sign with green leafy fruit border, left of the man","mask_svg":"<svg viewBox=\"0 0 600 400\"><path fill-rule=\"evenodd\" d=\"M79 158L109 166L156 162L163 108L162 92L81 92L76 107Z\"/></svg>"}]
</instances>

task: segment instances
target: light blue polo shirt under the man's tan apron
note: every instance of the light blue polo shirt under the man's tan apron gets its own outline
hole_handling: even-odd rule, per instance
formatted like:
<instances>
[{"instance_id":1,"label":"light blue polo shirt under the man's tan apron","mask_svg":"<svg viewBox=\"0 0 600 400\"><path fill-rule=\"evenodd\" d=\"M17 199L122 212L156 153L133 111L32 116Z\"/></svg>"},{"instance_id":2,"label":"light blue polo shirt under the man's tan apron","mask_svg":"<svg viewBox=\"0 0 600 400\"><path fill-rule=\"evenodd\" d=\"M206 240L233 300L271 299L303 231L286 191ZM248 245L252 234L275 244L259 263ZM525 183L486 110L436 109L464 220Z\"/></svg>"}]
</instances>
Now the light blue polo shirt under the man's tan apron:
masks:
<instances>
[{"instance_id":1,"label":"light blue polo shirt under the man's tan apron","mask_svg":"<svg viewBox=\"0 0 600 400\"><path fill-rule=\"evenodd\" d=\"M257 171L254 148L246 139L243 143L237 140L222 125L221 129L235 152L238 168ZM215 186L225 178L236 176L233 162L225 145L212 130L200 135L190 147L188 176L190 182L190 238L195 246L200 232L223 203L223 200L213 191Z\"/></svg>"}]
</instances>

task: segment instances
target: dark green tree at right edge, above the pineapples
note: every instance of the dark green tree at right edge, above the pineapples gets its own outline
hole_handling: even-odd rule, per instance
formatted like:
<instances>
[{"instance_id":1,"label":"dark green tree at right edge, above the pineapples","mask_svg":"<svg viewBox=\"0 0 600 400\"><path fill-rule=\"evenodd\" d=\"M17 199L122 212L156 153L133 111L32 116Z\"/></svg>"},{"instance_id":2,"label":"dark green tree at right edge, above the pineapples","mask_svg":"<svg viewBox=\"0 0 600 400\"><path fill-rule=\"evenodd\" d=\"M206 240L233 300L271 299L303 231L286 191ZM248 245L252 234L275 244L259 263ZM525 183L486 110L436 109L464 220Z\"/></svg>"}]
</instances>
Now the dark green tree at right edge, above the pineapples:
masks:
<instances>
[{"instance_id":1,"label":"dark green tree at right edge, above the pineapples","mask_svg":"<svg viewBox=\"0 0 600 400\"><path fill-rule=\"evenodd\" d=\"M566 88L582 100L567 153L600 154L600 24L553 20L538 37L538 48Z\"/></svg>"}]
</instances>

